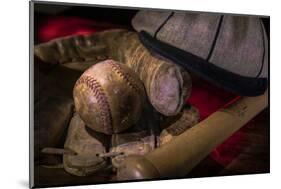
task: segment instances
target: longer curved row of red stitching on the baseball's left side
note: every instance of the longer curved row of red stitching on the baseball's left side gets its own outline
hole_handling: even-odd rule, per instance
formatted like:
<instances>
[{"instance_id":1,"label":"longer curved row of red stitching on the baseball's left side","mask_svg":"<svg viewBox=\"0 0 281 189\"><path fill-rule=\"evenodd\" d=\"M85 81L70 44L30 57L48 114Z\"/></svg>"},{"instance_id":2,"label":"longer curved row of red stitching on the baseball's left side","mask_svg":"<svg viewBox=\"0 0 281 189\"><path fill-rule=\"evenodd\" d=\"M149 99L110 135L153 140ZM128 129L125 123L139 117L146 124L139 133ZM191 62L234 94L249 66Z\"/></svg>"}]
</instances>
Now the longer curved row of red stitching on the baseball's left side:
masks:
<instances>
[{"instance_id":1,"label":"longer curved row of red stitching on the baseball's left side","mask_svg":"<svg viewBox=\"0 0 281 189\"><path fill-rule=\"evenodd\" d=\"M112 133L113 128L110 106L99 82L90 76L82 76L75 85L77 86L79 84L85 84L89 89L91 89L94 96L97 98L97 104L100 108L100 117L103 126L106 128L107 133Z\"/></svg>"}]
</instances>

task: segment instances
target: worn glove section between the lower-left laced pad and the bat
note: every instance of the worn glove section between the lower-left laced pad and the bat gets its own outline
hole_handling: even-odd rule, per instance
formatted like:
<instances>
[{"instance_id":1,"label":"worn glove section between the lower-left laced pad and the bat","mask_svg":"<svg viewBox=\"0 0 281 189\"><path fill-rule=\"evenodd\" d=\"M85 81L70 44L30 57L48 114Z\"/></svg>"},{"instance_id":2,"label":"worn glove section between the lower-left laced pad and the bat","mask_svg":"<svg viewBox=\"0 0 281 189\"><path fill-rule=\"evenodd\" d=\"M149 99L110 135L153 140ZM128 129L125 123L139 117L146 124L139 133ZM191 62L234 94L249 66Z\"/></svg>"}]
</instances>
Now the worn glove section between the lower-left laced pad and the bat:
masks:
<instances>
[{"instance_id":1,"label":"worn glove section between the lower-left laced pad and the bat","mask_svg":"<svg viewBox=\"0 0 281 189\"><path fill-rule=\"evenodd\" d=\"M129 131L112 135L110 152L122 153L112 158L112 165L115 168L120 167L129 155L145 155L158 147L159 120L159 115L151 104L146 102L138 123Z\"/></svg>"}]
</instances>

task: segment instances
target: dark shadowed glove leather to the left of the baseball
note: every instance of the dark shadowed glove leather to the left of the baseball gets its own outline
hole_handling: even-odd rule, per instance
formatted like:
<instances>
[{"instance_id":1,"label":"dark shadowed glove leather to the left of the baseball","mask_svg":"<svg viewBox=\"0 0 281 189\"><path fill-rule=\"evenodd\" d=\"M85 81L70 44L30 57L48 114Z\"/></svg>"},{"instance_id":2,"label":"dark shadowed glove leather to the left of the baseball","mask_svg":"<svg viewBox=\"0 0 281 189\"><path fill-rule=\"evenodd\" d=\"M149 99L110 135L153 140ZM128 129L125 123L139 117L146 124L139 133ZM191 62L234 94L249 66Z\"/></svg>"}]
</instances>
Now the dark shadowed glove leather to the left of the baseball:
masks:
<instances>
[{"instance_id":1,"label":"dark shadowed glove leather to the left of the baseball","mask_svg":"<svg viewBox=\"0 0 281 189\"><path fill-rule=\"evenodd\" d=\"M72 87L79 73L61 66L34 63L34 157L42 162L45 147L59 147L73 114ZM48 157L47 157L48 158Z\"/></svg>"}]
</instances>

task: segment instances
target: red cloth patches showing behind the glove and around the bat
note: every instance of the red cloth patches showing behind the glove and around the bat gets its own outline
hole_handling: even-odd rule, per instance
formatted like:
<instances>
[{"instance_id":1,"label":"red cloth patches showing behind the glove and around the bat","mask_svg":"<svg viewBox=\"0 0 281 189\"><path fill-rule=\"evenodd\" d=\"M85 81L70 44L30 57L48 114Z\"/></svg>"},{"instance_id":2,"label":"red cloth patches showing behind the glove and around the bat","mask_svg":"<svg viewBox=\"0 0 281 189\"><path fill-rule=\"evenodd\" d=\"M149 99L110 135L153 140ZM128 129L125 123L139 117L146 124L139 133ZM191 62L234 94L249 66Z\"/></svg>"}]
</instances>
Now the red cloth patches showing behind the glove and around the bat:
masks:
<instances>
[{"instance_id":1,"label":"red cloth patches showing behind the glove and around the bat","mask_svg":"<svg viewBox=\"0 0 281 189\"><path fill-rule=\"evenodd\" d=\"M100 24L93 20L81 19L78 17L50 17L42 27L39 28L38 36L40 41L45 42L57 37L63 37L76 34L90 34L105 29L114 28L110 24ZM219 108L231 102L236 96L224 91L223 89L211 86L204 81L195 81L193 83L191 96L187 103L197 107L202 121ZM245 140L241 132L236 132L232 137L217 147L211 157L219 164L226 166L230 163L240 151L238 144Z\"/></svg>"}]
</instances>

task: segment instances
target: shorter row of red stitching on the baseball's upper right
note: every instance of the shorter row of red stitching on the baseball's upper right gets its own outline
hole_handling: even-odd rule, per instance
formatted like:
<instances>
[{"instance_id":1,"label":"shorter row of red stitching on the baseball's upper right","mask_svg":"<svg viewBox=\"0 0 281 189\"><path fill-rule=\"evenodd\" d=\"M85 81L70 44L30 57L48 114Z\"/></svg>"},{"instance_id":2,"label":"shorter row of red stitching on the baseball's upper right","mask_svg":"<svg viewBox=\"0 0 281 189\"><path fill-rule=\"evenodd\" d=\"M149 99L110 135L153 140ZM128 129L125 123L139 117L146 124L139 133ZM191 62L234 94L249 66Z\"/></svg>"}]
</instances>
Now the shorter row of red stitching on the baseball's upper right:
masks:
<instances>
[{"instance_id":1,"label":"shorter row of red stitching on the baseball's upper right","mask_svg":"<svg viewBox=\"0 0 281 189\"><path fill-rule=\"evenodd\" d=\"M135 90L138 94L142 93L142 89L138 86L135 80L128 73L124 73L118 63L113 61L108 61L108 63L112 66L115 72L119 74L131 88L133 88L133 90Z\"/></svg>"}]
</instances>

